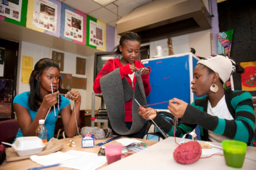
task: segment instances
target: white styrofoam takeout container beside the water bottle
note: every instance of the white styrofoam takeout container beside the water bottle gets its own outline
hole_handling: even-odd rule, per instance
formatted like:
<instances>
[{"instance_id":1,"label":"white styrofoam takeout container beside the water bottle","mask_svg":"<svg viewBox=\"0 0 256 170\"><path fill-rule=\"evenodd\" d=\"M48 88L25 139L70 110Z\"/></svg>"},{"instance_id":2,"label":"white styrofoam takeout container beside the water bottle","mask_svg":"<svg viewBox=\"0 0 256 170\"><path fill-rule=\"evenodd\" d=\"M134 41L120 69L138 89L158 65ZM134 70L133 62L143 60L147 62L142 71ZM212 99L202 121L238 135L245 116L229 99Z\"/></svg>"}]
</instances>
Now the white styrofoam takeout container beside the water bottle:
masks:
<instances>
[{"instance_id":1,"label":"white styrofoam takeout container beside the water bottle","mask_svg":"<svg viewBox=\"0 0 256 170\"><path fill-rule=\"evenodd\" d=\"M44 147L42 139L37 136L19 137L12 144L12 148L20 157L38 154Z\"/></svg>"}]
</instances>

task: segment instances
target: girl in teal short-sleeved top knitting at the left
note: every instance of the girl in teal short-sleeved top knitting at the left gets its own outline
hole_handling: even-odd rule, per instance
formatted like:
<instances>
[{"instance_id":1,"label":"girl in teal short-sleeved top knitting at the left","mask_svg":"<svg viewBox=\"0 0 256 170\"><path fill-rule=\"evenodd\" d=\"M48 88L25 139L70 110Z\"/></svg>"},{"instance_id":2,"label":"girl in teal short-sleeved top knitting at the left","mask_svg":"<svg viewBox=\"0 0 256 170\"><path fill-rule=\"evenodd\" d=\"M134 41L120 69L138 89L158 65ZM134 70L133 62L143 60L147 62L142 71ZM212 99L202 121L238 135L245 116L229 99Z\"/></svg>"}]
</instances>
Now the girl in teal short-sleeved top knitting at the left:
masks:
<instances>
[{"instance_id":1,"label":"girl in teal short-sleeved top knitting at the left","mask_svg":"<svg viewBox=\"0 0 256 170\"><path fill-rule=\"evenodd\" d=\"M30 92L18 94L14 100L19 130L17 137L36 136L40 119L45 119L47 141L54 134L58 114L67 137L75 136L79 120L81 95L71 90L65 95L58 95L61 87L61 75L58 64L50 58L42 58L35 65L29 78ZM70 101L75 101L71 111Z\"/></svg>"}]
</instances>

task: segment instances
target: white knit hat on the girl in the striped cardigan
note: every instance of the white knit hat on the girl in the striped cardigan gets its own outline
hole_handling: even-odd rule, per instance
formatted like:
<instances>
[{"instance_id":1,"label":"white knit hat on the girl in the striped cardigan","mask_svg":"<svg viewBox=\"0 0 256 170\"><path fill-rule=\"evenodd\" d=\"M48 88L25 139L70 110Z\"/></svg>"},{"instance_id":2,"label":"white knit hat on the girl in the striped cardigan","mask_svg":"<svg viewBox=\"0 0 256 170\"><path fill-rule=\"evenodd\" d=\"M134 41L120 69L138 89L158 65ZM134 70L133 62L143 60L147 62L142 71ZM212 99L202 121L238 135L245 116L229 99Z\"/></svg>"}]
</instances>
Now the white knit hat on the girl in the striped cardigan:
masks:
<instances>
[{"instance_id":1,"label":"white knit hat on the girl in the striped cardigan","mask_svg":"<svg viewBox=\"0 0 256 170\"><path fill-rule=\"evenodd\" d=\"M227 82L231 74L235 71L235 62L225 56L210 56L209 58L201 59L198 61L198 64L203 64L215 73L218 73L223 83Z\"/></svg>"}]
</instances>

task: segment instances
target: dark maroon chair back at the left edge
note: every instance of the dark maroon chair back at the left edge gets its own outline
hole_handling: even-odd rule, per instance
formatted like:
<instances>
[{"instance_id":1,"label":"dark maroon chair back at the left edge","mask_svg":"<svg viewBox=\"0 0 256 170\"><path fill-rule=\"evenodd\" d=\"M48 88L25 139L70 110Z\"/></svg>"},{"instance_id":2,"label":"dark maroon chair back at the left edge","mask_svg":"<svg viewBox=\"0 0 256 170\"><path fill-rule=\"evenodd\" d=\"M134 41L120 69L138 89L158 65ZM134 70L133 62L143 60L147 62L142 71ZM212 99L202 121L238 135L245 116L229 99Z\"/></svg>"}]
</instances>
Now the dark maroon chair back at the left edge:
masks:
<instances>
[{"instance_id":1,"label":"dark maroon chair back at the left edge","mask_svg":"<svg viewBox=\"0 0 256 170\"><path fill-rule=\"evenodd\" d=\"M2 142L12 143L16 137L19 126L17 119L9 119L0 122L0 144Z\"/></svg>"}]
</instances>

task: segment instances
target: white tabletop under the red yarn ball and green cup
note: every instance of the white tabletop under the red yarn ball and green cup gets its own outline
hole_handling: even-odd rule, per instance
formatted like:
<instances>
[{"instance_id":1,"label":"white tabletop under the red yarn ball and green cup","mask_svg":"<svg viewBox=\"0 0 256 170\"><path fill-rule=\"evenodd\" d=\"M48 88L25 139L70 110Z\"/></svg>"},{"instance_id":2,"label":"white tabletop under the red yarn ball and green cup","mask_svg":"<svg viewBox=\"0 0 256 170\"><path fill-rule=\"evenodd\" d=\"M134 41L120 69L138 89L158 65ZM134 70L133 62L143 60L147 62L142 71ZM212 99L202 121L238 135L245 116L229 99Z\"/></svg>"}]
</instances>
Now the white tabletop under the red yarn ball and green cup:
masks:
<instances>
[{"instance_id":1,"label":"white tabletop under the red yarn ball and green cup","mask_svg":"<svg viewBox=\"0 0 256 170\"><path fill-rule=\"evenodd\" d=\"M179 143L181 138L176 138L176 142ZM185 139L189 141L189 139ZM203 141L199 141L203 142ZM221 146L221 143L213 143L216 146ZM198 161L192 164L179 164L173 158L173 152L178 144L175 143L174 137L169 137L164 141L158 142L153 146L146 148L136 154L132 154L129 157L121 159L115 163L110 164L102 168L106 169L122 169L122 170L134 170L134 169L237 169L228 167L225 164L224 156L214 155L209 158L200 158ZM245 159L243 168L241 169L256 169L256 147L247 147L247 154L245 157L254 159Z\"/></svg>"}]
</instances>

